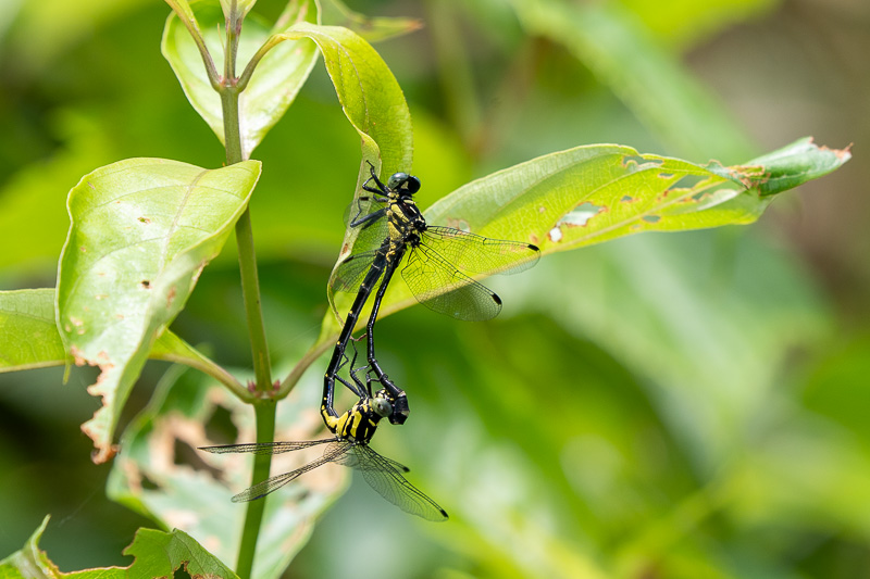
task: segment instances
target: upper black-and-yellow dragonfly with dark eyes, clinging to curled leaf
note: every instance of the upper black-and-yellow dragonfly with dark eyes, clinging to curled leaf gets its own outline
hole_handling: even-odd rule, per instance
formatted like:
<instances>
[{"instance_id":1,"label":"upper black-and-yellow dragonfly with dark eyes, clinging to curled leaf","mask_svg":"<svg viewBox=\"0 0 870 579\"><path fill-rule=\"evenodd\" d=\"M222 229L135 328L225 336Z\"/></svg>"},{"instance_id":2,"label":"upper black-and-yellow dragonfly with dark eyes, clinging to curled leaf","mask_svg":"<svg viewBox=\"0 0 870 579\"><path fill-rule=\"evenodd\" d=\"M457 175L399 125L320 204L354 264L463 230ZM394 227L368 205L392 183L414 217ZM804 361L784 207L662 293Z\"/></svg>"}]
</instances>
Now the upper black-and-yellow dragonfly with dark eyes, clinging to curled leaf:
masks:
<instances>
[{"instance_id":1,"label":"upper black-and-yellow dragonfly with dark eyes, clinging to curled leaf","mask_svg":"<svg viewBox=\"0 0 870 579\"><path fill-rule=\"evenodd\" d=\"M389 421L403 424L409 414L407 394L384 373L374 348L374 324L396 269L401 266L401 277L423 305L457 319L485 320L498 315L501 299L463 272L515 274L535 265L540 250L522 241L489 239L452 227L431 226L413 200L420 190L419 178L395 173L384 184L374 165L369 163L369 167L371 176L362 189L372 194L359 198L349 225L359 228L357 247L377 243L377 249L350 254L331 277L332 291L356 293L356 298L326 368L324 390L335 388L339 367L347 360L347 343L365 302L375 292L365 328L366 358L393 405ZM363 215L360 201L373 201L376 209Z\"/></svg>"}]
</instances>

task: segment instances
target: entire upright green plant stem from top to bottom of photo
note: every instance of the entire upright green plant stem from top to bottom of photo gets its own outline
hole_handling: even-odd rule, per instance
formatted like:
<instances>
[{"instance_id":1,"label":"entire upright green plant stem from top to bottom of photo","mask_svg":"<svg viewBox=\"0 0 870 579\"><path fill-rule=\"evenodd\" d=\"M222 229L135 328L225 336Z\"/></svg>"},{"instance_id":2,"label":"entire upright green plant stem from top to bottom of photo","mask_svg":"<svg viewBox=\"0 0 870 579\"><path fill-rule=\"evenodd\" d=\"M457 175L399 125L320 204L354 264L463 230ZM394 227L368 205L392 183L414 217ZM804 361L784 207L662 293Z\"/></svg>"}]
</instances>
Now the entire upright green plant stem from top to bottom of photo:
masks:
<instances>
[{"instance_id":1,"label":"entire upright green plant stem from top to bottom of photo","mask_svg":"<svg viewBox=\"0 0 870 579\"><path fill-rule=\"evenodd\" d=\"M224 81L221 88L221 105L224 115L224 143L226 163L232 165L244 160L241 148L241 129L238 114L239 90L236 85L235 65L238 36L241 32L241 13L234 1L226 25L226 60L224 61ZM253 231L251 228L250 209L236 222L236 243L238 246L238 264L241 276L241 295L245 301L245 317L248 323L248 336L251 342L253 372L256 376L256 393L262 398L254 400L253 411L257 421L257 442L271 442L275 439L275 401L271 398L272 375L269 364L269 344L265 338L263 311L260 305L260 280L257 275L257 253L253 249ZM269 478L272 455L256 455L251 484ZM251 577L253 561L257 554L257 539L263 520L265 501L251 501L245 513L245 526L241 529L236 574L239 577Z\"/></svg>"}]
</instances>

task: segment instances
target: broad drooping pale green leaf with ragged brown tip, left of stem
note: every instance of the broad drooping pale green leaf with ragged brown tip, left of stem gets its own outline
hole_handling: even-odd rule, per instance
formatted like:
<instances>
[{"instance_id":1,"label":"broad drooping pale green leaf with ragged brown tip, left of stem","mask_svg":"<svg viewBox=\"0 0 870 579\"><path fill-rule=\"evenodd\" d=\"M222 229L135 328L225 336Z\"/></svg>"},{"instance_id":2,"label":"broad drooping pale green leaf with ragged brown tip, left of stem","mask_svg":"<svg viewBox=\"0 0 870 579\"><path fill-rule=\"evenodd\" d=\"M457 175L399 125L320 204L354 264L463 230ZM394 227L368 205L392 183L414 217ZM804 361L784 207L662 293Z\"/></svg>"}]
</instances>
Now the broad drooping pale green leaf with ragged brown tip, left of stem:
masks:
<instances>
[{"instance_id":1,"label":"broad drooping pale green leaf with ragged brown tip, left of stem","mask_svg":"<svg viewBox=\"0 0 870 579\"><path fill-rule=\"evenodd\" d=\"M102 370L89 392L103 406L83 425L96 462L113 454L119 413L151 344L221 251L259 175L256 161L209 171L132 159L86 175L70 192L58 326L76 363Z\"/></svg>"}]
</instances>

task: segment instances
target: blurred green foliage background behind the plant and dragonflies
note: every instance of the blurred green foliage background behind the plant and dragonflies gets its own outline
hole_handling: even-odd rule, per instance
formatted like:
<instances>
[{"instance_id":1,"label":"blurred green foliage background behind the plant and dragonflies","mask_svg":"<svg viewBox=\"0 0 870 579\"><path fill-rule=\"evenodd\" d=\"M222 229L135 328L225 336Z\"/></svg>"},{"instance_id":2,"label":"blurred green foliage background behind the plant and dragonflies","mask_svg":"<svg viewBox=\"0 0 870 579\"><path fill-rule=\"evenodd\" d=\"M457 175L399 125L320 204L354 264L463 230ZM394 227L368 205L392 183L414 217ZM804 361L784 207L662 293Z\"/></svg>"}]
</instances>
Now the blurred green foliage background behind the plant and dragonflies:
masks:
<instances>
[{"instance_id":1,"label":"blurred green foliage background behind the plant and dragonflies","mask_svg":"<svg viewBox=\"0 0 870 579\"><path fill-rule=\"evenodd\" d=\"M738 163L811 135L857 159L755 226L637 236L493 279L495 322L386 318L382 362L413 414L376 446L451 520L417 520L357 480L286 577L870 576L870 4L351 5L424 24L376 45L411 106L423 206L595 142ZM221 165L160 54L167 14L157 0L0 4L2 289L54 285L85 173L129 156ZM253 156L270 345L291 364L326 311L359 168L322 65ZM173 329L250 367L234 242ZM166 367L149 363L122 425ZM109 467L88 460L95 373L62 375L0 375L0 557L50 513L41 544L62 570L129 564L121 550L151 524L105 499ZM364 537L361 516L378 520Z\"/></svg>"}]
</instances>

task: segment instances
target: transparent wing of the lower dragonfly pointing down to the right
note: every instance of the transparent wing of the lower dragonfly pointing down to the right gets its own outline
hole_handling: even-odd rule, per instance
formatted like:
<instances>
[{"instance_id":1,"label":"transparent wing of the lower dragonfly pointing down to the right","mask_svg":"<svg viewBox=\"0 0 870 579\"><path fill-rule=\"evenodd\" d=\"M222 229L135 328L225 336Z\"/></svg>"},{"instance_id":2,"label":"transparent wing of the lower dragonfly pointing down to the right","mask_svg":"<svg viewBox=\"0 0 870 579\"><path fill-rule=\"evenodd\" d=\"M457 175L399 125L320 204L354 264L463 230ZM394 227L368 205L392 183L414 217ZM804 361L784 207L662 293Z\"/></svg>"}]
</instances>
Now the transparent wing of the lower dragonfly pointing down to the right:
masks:
<instances>
[{"instance_id":1,"label":"transparent wing of the lower dragonfly pointing down to the right","mask_svg":"<svg viewBox=\"0 0 870 579\"><path fill-rule=\"evenodd\" d=\"M408 482L394 466L397 463L381 456L366 444L356 444L352 449L357 460L355 466L362 471L365 482L381 496L406 513L426 520L447 520L447 512Z\"/></svg>"}]
</instances>

